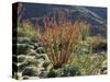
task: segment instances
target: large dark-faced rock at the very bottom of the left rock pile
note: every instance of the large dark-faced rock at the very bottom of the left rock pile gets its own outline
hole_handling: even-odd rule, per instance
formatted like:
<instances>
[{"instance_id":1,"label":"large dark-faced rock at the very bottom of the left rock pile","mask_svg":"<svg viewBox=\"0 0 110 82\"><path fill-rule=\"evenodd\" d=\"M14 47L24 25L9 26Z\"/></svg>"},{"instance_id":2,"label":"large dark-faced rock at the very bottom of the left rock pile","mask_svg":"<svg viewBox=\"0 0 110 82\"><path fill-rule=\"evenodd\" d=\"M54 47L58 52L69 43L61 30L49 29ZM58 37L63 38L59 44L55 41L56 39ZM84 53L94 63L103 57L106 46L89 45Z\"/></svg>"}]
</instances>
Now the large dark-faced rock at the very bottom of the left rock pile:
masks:
<instances>
[{"instance_id":1,"label":"large dark-faced rock at the very bottom of the left rock pile","mask_svg":"<svg viewBox=\"0 0 110 82\"><path fill-rule=\"evenodd\" d=\"M37 77L38 74L40 70L36 69L35 67L26 67L22 72L22 75L29 75L29 77Z\"/></svg>"}]
</instances>

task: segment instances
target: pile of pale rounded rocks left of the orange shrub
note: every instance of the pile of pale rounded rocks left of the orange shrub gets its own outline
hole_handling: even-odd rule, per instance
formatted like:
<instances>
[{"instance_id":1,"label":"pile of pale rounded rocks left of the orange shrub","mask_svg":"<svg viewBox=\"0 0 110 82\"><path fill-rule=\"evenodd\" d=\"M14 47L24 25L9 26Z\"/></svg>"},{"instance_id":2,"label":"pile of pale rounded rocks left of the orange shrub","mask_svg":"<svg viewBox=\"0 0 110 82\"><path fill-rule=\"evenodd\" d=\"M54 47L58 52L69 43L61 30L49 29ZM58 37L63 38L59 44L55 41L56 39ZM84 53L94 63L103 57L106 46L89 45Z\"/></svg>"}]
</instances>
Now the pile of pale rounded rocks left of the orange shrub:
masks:
<instances>
[{"instance_id":1,"label":"pile of pale rounded rocks left of the orange shrub","mask_svg":"<svg viewBox=\"0 0 110 82\"><path fill-rule=\"evenodd\" d=\"M18 68L18 79L46 78L50 60L42 43L29 37L18 37L18 55L13 57L18 59L18 62L13 62Z\"/></svg>"}]
</instances>

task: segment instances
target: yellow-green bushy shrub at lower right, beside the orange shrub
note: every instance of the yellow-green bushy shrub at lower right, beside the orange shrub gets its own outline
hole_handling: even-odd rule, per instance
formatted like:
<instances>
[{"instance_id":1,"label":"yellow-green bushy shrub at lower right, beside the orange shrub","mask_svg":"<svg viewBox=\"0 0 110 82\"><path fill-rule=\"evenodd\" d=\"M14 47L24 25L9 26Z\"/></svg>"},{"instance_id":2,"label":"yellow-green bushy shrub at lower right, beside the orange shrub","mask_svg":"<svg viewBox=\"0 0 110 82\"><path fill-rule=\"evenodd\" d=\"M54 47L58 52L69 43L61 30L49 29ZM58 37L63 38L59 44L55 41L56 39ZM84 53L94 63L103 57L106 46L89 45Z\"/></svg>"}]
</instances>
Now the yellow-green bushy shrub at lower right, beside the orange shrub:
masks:
<instances>
[{"instance_id":1,"label":"yellow-green bushy shrub at lower right, beside the orange shrub","mask_svg":"<svg viewBox=\"0 0 110 82\"><path fill-rule=\"evenodd\" d=\"M77 67L80 74L101 74L102 62L106 57L100 54L90 55L73 55L72 66ZM105 65L107 67L107 65Z\"/></svg>"}]
</instances>

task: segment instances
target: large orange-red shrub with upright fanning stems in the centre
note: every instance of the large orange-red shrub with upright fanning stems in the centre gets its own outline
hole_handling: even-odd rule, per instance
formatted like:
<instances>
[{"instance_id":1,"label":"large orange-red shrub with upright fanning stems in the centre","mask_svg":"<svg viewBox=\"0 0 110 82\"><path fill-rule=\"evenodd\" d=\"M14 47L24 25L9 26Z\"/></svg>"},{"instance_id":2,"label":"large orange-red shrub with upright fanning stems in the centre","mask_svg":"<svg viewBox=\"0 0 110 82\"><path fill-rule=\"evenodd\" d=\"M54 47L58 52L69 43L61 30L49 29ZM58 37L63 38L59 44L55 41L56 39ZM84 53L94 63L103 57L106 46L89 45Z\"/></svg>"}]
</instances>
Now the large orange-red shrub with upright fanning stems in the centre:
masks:
<instances>
[{"instance_id":1,"label":"large orange-red shrub with upright fanning stems in the centre","mask_svg":"<svg viewBox=\"0 0 110 82\"><path fill-rule=\"evenodd\" d=\"M44 27L41 40L54 68L67 63L74 46L78 43L78 22Z\"/></svg>"}]
</instances>

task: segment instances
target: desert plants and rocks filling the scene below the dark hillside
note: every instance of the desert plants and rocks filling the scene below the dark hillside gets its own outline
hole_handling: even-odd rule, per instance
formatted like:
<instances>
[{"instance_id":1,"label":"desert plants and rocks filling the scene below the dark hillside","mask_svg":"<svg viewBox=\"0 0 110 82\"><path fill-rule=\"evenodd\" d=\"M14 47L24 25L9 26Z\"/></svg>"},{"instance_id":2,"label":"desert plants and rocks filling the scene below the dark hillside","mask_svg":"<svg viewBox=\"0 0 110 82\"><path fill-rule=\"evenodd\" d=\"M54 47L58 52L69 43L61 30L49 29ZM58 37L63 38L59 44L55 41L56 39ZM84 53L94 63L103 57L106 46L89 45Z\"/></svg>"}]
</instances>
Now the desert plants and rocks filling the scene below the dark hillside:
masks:
<instances>
[{"instance_id":1,"label":"desert plants and rocks filling the scene below the dark hillside","mask_svg":"<svg viewBox=\"0 0 110 82\"><path fill-rule=\"evenodd\" d=\"M45 15L43 27L37 23L34 26L30 19L22 22L19 19L16 67L22 77L106 74L107 38L101 34L91 36L89 22L65 21L62 15L57 23L53 22L54 16Z\"/></svg>"}]
</instances>

